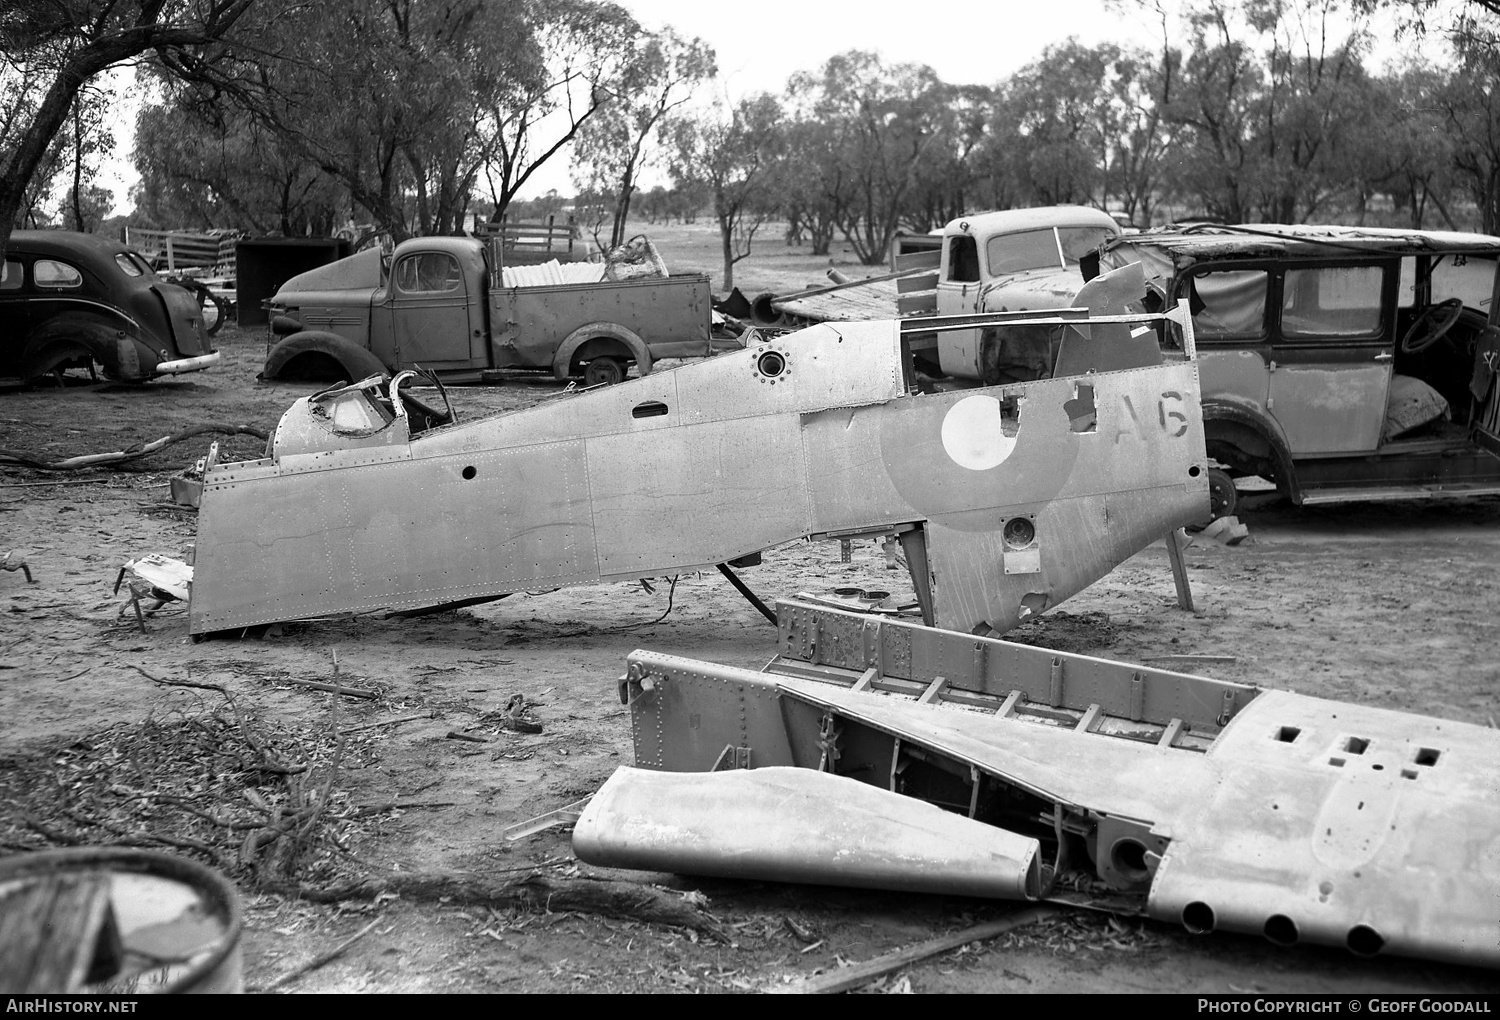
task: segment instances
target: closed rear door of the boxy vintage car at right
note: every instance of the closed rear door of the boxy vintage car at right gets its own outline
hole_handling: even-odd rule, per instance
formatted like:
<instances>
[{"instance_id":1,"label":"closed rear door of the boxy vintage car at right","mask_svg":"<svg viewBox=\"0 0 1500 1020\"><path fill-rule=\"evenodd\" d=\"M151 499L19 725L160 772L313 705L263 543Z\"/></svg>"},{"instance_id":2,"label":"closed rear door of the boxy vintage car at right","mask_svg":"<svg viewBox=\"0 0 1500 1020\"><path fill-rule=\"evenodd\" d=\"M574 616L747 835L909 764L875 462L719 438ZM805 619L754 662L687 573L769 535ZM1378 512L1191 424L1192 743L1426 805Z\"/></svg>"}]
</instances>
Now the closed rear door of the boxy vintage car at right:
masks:
<instances>
[{"instance_id":1,"label":"closed rear door of the boxy vintage car at right","mask_svg":"<svg viewBox=\"0 0 1500 1020\"><path fill-rule=\"evenodd\" d=\"M1380 262L1288 266L1272 294L1268 408L1292 454L1380 446L1390 390L1395 274Z\"/></svg>"}]
</instances>

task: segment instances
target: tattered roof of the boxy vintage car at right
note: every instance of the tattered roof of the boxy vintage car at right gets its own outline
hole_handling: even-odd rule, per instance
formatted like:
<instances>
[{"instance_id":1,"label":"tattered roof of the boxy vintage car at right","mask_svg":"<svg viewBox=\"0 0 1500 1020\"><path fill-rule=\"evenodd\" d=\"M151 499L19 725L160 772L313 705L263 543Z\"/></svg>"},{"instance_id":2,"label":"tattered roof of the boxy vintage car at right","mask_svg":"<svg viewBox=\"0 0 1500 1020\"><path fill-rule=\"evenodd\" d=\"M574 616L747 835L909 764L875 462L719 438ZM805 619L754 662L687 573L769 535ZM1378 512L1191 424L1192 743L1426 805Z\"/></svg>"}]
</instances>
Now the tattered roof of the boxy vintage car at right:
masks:
<instances>
[{"instance_id":1,"label":"tattered roof of the boxy vintage car at right","mask_svg":"<svg viewBox=\"0 0 1500 1020\"><path fill-rule=\"evenodd\" d=\"M1329 224L1242 224L1164 226L1128 234L1104 244L1155 249L1178 268L1228 260L1306 258L1335 260L1350 255L1434 255L1444 252L1492 252L1500 255L1500 237L1460 231L1401 230L1392 226L1340 226Z\"/></svg>"}]
</instances>

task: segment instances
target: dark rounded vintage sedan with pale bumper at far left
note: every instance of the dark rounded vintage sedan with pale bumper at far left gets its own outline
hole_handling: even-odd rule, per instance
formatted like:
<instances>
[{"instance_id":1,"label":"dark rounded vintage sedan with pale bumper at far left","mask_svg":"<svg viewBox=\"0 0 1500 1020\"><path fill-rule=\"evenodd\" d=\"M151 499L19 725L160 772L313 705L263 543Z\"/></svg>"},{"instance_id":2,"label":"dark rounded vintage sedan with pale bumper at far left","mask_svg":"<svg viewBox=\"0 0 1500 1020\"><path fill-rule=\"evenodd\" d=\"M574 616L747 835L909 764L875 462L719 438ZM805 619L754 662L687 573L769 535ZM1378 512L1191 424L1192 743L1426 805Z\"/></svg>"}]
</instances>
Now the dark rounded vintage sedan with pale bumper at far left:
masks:
<instances>
[{"instance_id":1,"label":"dark rounded vintage sedan with pale bumper at far left","mask_svg":"<svg viewBox=\"0 0 1500 1020\"><path fill-rule=\"evenodd\" d=\"M98 234L15 231L0 266L0 378L146 381L214 364L198 300Z\"/></svg>"}]
</instances>

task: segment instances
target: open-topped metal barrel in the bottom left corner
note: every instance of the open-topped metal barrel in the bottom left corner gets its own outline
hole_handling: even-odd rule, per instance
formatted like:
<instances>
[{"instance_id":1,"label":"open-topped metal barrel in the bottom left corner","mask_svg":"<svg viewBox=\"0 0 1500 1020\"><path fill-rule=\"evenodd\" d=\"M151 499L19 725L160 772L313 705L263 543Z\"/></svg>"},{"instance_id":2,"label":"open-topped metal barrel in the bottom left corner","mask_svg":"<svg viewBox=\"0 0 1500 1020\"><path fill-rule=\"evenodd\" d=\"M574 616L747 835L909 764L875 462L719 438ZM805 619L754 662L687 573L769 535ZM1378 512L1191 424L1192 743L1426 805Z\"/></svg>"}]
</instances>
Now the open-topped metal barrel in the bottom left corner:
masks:
<instances>
[{"instance_id":1,"label":"open-topped metal barrel in the bottom left corner","mask_svg":"<svg viewBox=\"0 0 1500 1020\"><path fill-rule=\"evenodd\" d=\"M0 860L0 992L243 992L240 894L171 854L118 846Z\"/></svg>"}]
</instances>

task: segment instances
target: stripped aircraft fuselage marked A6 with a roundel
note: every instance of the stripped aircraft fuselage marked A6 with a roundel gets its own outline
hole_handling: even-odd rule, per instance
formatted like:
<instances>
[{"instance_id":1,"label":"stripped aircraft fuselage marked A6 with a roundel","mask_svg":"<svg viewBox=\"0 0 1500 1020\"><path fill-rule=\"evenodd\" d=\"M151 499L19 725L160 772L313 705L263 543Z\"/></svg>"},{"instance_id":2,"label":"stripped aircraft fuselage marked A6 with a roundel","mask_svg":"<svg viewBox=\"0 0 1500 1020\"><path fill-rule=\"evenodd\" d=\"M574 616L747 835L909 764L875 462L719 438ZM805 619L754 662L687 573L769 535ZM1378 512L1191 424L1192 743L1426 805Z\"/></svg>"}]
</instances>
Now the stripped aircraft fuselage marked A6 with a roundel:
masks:
<instances>
[{"instance_id":1,"label":"stripped aircraft fuselage marked A6 with a roundel","mask_svg":"<svg viewBox=\"0 0 1500 1020\"><path fill-rule=\"evenodd\" d=\"M918 393L908 344L825 324L416 436L399 402L302 400L204 478L192 633L849 534L900 536L930 621L1004 632L1206 514L1194 362Z\"/></svg>"}]
</instances>

